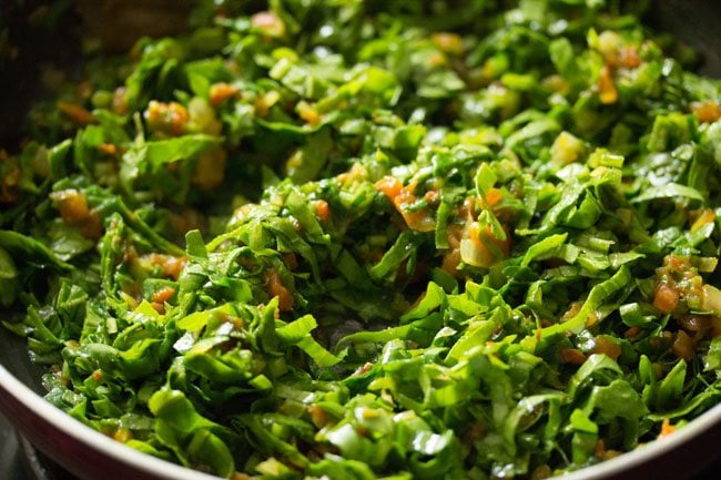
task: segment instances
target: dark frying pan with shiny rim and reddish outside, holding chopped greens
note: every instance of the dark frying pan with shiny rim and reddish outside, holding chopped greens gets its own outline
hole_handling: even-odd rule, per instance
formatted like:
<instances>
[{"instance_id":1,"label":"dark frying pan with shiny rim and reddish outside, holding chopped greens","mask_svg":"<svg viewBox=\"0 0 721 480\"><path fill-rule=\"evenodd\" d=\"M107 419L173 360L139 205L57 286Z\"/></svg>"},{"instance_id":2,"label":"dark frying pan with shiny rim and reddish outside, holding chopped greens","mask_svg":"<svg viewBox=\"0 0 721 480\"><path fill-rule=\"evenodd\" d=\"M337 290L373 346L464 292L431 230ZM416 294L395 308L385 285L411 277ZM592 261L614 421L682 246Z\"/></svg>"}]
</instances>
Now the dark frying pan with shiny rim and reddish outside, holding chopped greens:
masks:
<instances>
[{"instance_id":1,"label":"dark frying pan with shiny rim and reddish outside, holding chopped greens","mask_svg":"<svg viewBox=\"0 0 721 480\"><path fill-rule=\"evenodd\" d=\"M87 0L85 3L93 2ZM112 1L108 0L108 3ZM37 7L38 2L26 1L22 4L26 9L20 12L20 17L12 7L8 8L8 3L0 6L0 29L4 22L10 24L11 33L13 29L19 32L14 40L20 45L17 59L8 61L0 55L0 145L10 149L20 137L18 125L21 124L24 109L33 98L42 95L38 65L50 62L71 69L79 58L78 32L82 29L81 18L68 16L62 19L63 30L60 33L58 30L45 30L40 37L37 31L34 37L27 34L22 14L27 13L29 4ZM705 59L701 72L713 76L721 76L719 20L721 2L717 0L658 0L649 17L651 24L673 33L699 50ZM161 28L151 33L172 32L172 24L165 28L166 30ZM148 33L140 27L134 32L132 30L125 29L125 32ZM41 398L44 392L40 381L42 374L41 367L31 364L24 339L0 328L0 415L14 423L38 449L79 478L214 478L140 453L67 416ZM720 440L721 405L667 438L563 478L687 479L720 458Z\"/></svg>"}]
</instances>

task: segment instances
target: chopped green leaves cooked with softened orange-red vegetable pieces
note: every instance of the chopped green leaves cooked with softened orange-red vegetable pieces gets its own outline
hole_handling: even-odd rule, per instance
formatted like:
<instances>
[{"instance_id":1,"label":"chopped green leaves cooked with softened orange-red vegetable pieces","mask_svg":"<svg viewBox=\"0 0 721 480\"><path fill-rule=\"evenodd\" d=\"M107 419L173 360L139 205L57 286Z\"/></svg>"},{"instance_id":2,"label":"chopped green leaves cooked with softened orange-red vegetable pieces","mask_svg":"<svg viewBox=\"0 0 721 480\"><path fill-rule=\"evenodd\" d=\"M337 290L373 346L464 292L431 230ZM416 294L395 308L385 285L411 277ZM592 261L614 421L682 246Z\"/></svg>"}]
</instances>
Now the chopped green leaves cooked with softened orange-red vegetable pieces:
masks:
<instances>
[{"instance_id":1,"label":"chopped green leaves cooked with softened orange-red vegetable pieces","mask_svg":"<svg viewBox=\"0 0 721 480\"><path fill-rule=\"evenodd\" d=\"M721 401L721 82L615 0L207 1L0 156L47 399L233 479L544 479Z\"/></svg>"}]
</instances>

